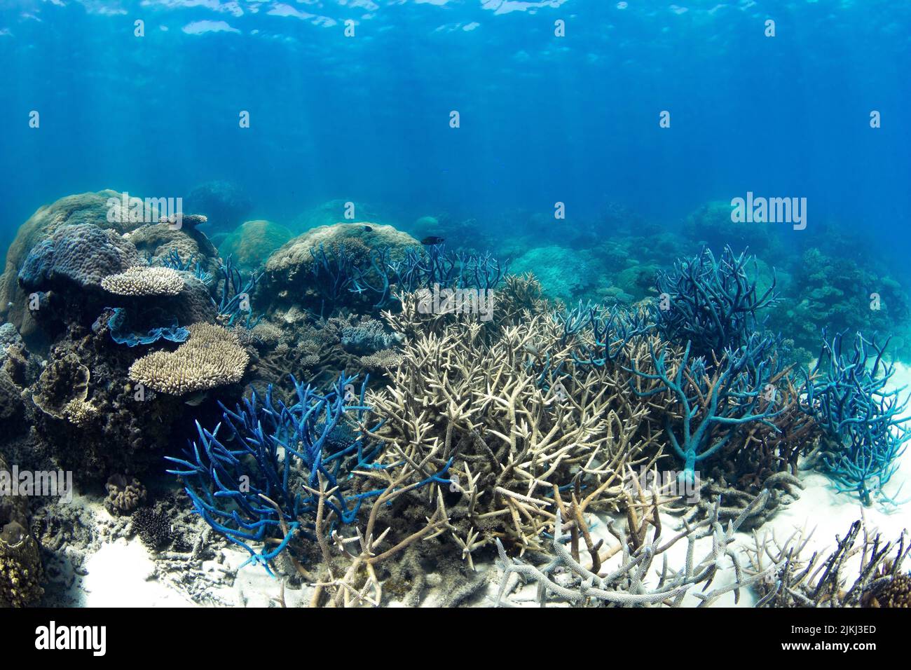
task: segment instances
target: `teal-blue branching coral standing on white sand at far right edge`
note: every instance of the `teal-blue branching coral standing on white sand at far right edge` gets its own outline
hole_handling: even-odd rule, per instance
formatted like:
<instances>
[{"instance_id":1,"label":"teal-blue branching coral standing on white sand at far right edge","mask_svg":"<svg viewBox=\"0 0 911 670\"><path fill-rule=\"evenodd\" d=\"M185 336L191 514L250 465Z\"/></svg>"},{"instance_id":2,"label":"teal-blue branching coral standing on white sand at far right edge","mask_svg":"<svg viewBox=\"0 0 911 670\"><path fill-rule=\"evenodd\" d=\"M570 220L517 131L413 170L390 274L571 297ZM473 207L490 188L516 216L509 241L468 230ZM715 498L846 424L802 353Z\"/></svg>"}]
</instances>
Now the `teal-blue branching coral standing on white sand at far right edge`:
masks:
<instances>
[{"instance_id":1,"label":"teal-blue branching coral standing on white sand at far right edge","mask_svg":"<svg viewBox=\"0 0 911 670\"><path fill-rule=\"evenodd\" d=\"M839 492L855 493L869 505L875 498L896 504L883 487L898 468L911 439L904 387L888 391L895 365L884 360L888 339L857 334L853 345L844 335L825 339L819 359L804 384L804 409L823 428L816 460Z\"/></svg>"}]
</instances>

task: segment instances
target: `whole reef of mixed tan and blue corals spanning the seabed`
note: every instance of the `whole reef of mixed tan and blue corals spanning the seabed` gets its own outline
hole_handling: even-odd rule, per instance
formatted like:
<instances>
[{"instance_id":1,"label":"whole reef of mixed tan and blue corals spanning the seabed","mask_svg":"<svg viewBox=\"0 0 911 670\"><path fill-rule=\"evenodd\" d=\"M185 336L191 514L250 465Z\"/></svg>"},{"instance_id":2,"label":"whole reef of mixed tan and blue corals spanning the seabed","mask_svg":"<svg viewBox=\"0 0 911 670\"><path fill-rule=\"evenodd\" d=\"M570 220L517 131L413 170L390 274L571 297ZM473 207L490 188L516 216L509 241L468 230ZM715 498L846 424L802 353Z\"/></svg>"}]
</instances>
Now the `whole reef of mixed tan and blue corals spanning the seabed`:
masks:
<instances>
[{"instance_id":1,"label":"whole reef of mixed tan and blue corals spanning the seabed","mask_svg":"<svg viewBox=\"0 0 911 670\"><path fill-rule=\"evenodd\" d=\"M188 201L241 216L216 186ZM541 278L571 254L517 273L375 222L247 222L222 254L206 216L110 202L42 208L10 249L0 426L31 456L0 472L103 488L196 602L219 582L186 575L234 556L232 579L314 606L907 603L904 536L858 521L821 553L767 531L820 475L900 507L911 438L888 339L785 337L796 268L680 238L650 282L566 302ZM54 593L60 513L0 496L0 603Z\"/></svg>"}]
</instances>

